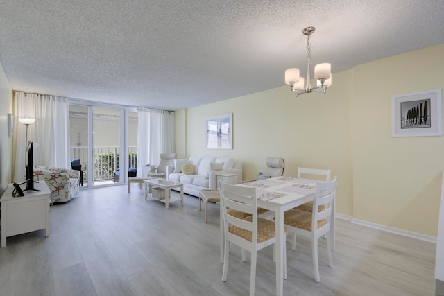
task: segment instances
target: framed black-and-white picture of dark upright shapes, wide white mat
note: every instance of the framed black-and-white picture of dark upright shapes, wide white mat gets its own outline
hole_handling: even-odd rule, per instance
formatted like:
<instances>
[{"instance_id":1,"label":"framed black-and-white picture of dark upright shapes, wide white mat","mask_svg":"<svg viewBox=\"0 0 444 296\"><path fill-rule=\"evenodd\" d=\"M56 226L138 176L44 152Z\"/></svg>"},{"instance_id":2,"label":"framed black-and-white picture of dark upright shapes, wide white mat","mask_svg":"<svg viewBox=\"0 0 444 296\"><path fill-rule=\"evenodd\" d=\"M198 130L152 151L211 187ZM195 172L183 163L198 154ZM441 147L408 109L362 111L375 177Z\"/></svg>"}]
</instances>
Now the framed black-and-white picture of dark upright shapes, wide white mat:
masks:
<instances>
[{"instance_id":1,"label":"framed black-and-white picture of dark upright shapes, wide white mat","mask_svg":"<svg viewBox=\"0 0 444 296\"><path fill-rule=\"evenodd\" d=\"M441 136L441 89L391 98L392 137Z\"/></svg>"}]
</instances>

